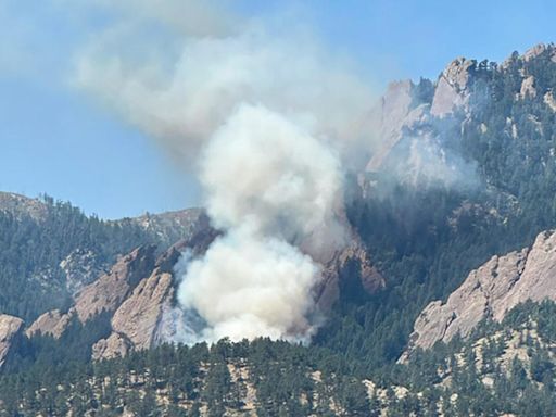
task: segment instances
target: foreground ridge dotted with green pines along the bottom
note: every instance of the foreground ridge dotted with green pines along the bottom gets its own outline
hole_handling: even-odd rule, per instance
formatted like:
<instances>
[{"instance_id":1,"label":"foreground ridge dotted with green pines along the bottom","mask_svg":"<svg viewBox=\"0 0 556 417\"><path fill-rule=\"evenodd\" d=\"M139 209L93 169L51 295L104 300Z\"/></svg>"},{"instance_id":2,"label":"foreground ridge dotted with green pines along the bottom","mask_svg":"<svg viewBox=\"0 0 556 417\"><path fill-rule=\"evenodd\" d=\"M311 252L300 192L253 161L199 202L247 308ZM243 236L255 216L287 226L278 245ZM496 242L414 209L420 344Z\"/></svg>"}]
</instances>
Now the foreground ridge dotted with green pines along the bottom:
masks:
<instances>
[{"instance_id":1,"label":"foreground ridge dotted with green pines along the bottom","mask_svg":"<svg viewBox=\"0 0 556 417\"><path fill-rule=\"evenodd\" d=\"M371 375L353 355L268 339L161 345L99 363L79 361L74 344L73 359L43 355L1 377L0 416L548 416L555 343L556 304L543 302Z\"/></svg>"}]
</instances>

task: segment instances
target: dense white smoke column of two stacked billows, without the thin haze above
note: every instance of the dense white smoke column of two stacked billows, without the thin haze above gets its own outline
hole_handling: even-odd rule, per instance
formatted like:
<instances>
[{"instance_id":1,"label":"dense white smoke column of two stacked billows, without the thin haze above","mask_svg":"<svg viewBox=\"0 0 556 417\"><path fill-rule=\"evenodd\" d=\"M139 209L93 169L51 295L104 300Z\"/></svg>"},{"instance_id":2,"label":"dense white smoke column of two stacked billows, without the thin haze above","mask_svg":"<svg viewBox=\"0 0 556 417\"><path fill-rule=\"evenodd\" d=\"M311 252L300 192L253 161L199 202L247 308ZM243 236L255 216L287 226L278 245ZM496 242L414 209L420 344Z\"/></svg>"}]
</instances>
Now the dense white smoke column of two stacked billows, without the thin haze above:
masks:
<instances>
[{"instance_id":1,"label":"dense white smoke column of two stacked billows, without the thin haze above","mask_svg":"<svg viewBox=\"0 0 556 417\"><path fill-rule=\"evenodd\" d=\"M292 243L337 223L338 157L283 116L241 105L201 160L208 214L227 233L188 266L179 301L206 320L206 340L306 338L319 266Z\"/></svg>"}]
</instances>

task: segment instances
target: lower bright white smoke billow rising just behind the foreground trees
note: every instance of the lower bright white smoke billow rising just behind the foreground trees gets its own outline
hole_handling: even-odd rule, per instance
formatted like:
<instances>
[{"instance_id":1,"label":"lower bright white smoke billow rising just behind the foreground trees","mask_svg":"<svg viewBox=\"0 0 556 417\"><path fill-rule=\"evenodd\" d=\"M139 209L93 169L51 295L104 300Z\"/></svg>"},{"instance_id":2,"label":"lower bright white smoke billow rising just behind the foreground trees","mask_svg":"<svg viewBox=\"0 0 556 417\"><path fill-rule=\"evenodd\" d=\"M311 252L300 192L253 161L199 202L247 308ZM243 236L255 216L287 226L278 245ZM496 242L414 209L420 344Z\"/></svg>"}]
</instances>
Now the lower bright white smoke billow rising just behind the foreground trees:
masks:
<instances>
[{"instance_id":1,"label":"lower bright white smoke billow rising just behind the foreground trees","mask_svg":"<svg viewBox=\"0 0 556 417\"><path fill-rule=\"evenodd\" d=\"M313 260L286 241L241 226L188 266L178 299L205 319L203 340L300 340L312 332L307 315L318 274Z\"/></svg>"}]
</instances>

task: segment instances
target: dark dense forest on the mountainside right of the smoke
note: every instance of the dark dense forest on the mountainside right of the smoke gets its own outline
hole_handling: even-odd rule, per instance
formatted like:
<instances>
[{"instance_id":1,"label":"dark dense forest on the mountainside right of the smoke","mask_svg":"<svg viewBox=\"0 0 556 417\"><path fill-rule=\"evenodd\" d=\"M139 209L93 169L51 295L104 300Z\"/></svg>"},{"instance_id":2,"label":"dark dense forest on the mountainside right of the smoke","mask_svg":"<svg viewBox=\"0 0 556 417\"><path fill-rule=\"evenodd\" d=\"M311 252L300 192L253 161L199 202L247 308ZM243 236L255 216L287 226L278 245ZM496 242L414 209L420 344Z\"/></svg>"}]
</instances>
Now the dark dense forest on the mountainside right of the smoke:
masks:
<instances>
[{"instance_id":1,"label":"dark dense forest on the mountainside right of the smoke","mask_svg":"<svg viewBox=\"0 0 556 417\"><path fill-rule=\"evenodd\" d=\"M450 137L440 140L475 164L479 186L414 187L378 176L370 197L351 198L350 220L389 285L366 295L344 280L318 344L359 355L369 368L389 366L428 302L447 298L491 256L556 227L556 113L545 99L556 85L553 51L475 64L468 112L442 121L439 135ZM535 93L522 97L529 76Z\"/></svg>"}]
</instances>

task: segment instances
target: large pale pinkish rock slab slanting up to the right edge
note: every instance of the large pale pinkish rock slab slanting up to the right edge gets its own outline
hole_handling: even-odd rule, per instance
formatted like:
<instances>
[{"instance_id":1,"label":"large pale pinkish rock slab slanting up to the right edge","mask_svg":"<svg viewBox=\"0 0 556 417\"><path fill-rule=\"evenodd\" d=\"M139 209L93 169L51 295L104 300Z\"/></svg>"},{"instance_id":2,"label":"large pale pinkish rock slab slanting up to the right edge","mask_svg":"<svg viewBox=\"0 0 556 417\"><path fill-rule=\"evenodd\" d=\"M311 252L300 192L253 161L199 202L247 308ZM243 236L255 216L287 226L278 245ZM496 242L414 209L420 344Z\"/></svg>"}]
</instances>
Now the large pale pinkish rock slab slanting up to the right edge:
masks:
<instances>
[{"instance_id":1,"label":"large pale pinkish rock slab slanting up to the right edge","mask_svg":"<svg viewBox=\"0 0 556 417\"><path fill-rule=\"evenodd\" d=\"M493 256L472 270L445 303L433 301L415 321L405 361L416 348L429 349L456 334L467 337L486 316L501 321L527 300L556 300L556 232L542 232L533 245Z\"/></svg>"}]
</instances>

